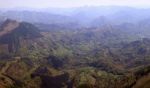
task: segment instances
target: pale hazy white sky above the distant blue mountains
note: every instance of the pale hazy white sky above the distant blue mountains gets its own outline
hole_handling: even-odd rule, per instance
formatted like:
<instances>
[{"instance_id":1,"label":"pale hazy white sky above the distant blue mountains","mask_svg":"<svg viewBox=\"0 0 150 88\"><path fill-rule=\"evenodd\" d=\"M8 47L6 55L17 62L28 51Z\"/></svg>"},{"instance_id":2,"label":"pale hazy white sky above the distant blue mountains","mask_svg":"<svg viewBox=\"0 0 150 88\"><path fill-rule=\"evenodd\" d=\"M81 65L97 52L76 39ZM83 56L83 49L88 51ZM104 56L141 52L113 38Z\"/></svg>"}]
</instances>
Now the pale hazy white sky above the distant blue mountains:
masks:
<instances>
[{"instance_id":1,"label":"pale hazy white sky above the distant blue mountains","mask_svg":"<svg viewBox=\"0 0 150 88\"><path fill-rule=\"evenodd\" d=\"M99 5L150 7L150 0L0 0L0 8L47 8Z\"/></svg>"}]
</instances>

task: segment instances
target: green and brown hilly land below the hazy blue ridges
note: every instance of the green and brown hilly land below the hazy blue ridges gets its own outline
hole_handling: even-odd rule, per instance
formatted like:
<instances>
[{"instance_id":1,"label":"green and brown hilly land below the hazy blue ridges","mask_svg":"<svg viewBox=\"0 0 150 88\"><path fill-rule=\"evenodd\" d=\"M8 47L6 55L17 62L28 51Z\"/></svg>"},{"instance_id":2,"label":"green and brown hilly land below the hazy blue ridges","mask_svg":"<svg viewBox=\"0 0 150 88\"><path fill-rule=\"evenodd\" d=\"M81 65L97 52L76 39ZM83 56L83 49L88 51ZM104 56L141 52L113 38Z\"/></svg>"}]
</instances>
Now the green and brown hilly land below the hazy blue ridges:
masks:
<instances>
[{"instance_id":1,"label":"green and brown hilly land below the hazy blue ridges","mask_svg":"<svg viewBox=\"0 0 150 88\"><path fill-rule=\"evenodd\" d=\"M150 73L149 38L137 40L135 34L120 29L112 32L107 26L39 31L32 24L18 24L0 37L0 87L149 86L149 78L145 78Z\"/></svg>"}]
</instances>

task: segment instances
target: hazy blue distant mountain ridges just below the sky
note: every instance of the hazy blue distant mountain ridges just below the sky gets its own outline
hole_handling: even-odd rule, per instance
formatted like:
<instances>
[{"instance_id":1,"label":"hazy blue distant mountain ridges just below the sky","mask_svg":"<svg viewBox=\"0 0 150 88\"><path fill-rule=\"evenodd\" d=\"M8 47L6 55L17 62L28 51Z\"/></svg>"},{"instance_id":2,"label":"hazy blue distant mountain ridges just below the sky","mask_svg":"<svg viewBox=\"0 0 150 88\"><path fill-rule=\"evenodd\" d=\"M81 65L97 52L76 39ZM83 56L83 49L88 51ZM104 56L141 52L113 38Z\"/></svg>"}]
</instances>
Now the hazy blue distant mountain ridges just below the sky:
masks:
<instances>
[{"instance_id":1,"label":"hazy blue distant mountain ridges just below the sky","mask_svg":"<svg viewBox=\"0 0 150 88\"><path fill-rule=\"evenodd\" d=\"M10 18L30 23L79 23L87 26L99 17L106 17L111 23L136 23L150 18L150 9L125 6L97 6L78 8L47 8L40 10L5 10L0 19ZM2 17L2 18L1 18Z\"/></svg>"}]
</instances>

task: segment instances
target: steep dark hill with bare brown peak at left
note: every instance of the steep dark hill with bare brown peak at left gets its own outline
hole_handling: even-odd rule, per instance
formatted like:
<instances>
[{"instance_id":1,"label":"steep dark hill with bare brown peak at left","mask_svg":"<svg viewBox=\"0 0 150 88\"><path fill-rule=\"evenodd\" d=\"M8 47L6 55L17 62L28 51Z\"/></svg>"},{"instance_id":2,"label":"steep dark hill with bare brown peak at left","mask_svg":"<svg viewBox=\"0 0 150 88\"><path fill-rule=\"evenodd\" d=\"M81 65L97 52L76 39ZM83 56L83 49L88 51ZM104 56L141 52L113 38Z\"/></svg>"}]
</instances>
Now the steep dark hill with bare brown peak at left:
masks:
<instances>
[{"instance_id":1,"label":"steep dark hill with bare brown peak at left","mask_svg":"<svg viewBox=\"0 0 150 88\"><path fill-rule=\"evenodd\" d=\"M23 40L41 37L38 28L26 22L6 20L0 30L0 46L10 53L17 52Z\"/></svg>"}]
</instances>

